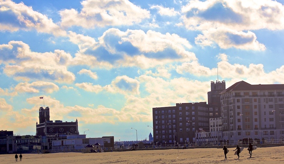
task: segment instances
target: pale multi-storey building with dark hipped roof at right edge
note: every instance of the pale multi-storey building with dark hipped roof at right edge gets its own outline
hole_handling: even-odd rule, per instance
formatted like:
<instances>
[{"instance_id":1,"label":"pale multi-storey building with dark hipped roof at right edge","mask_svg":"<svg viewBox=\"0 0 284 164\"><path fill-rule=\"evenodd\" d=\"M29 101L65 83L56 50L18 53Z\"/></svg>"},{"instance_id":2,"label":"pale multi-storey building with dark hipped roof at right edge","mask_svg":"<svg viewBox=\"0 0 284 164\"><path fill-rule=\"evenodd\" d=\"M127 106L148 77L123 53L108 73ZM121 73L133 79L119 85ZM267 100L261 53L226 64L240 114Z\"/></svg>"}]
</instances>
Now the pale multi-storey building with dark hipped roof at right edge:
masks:
<instances>
[{"instance_id":1,"label":"pale multi-storey building with dark hipped roof at right edge","mask_svg":"<svg viewBox=\"0 0 284 164\"><path fill-rule=\"evenodd\" d=\"M222 91L222 136L236 142L243 138L284 138L284 84L251 85L240 81Z\"/></svg>"}]
</instances>

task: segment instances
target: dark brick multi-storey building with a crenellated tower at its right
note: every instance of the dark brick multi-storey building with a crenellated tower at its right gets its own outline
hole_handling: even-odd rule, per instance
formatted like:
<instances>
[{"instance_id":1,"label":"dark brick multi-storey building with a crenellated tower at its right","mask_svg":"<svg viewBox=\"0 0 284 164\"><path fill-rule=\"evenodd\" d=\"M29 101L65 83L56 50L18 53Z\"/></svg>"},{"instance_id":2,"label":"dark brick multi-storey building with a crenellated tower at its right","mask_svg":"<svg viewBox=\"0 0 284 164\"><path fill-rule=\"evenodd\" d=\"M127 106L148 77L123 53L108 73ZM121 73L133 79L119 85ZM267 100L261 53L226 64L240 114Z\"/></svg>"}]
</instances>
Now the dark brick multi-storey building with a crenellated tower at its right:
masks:
<instances>
[{"instance_id":1,"label":"dark brick multi-storey building with a crenellated tower at its right","mask_svg":"<svg viewBox=\"0 0 284 164\"><path fill-rule=\"evenodd\" d=\"M154 143L196 143L196 131L210 131L210 118L221 116L220 92L225 81L211 81L208 104L176 103L175 106L152 108Z\"/></svg>"}]
</instances>

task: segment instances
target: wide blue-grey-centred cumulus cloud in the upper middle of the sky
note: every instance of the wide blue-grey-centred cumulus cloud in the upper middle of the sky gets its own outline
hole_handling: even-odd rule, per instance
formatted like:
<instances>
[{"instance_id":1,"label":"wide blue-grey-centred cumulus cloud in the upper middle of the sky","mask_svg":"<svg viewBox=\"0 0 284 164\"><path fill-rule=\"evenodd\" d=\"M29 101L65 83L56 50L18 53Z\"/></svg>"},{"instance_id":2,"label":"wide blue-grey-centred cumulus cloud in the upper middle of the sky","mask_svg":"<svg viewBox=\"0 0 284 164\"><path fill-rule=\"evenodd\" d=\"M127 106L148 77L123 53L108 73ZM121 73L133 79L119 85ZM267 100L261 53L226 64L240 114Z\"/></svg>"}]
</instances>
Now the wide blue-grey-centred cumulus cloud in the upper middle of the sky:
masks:
<instances>
[{"instance_id":1,"label":"wide blue-grey-centred cumulus cloud in the upper middle of the sky","mask_svg":"<svg viewBox=\"0 0 284 164\"><path fill-rule=\"evenodd\" d=\"M152 30L120 31L106 30L98 42L94 39L69 33L70 40L79 45L80 52L73 60L74 65L112 68L113 66L138 66L149 68L175 61L196 60L192 46L185 38L176 34L162 34Z\"/></svg>"}]
</instances>

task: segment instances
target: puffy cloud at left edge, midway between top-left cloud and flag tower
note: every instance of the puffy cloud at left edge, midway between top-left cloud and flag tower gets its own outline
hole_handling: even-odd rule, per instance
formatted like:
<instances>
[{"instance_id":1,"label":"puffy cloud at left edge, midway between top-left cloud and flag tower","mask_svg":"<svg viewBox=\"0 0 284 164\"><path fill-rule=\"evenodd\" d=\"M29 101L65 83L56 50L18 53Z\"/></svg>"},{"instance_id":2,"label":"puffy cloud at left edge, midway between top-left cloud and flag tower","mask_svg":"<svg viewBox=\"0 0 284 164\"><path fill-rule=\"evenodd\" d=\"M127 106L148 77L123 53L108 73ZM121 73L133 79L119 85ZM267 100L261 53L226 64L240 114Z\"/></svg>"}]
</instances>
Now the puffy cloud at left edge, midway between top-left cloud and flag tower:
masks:
<instances>
[{"instance_id":1,"label":"puffy cloud at left edge, midway between top-left cloud and flag tower","mask_svg":"<svg viewBox=\"0 0 284 164\"><path fill-rule=\"evenodd\" d=\"M62 50L54 52L31 52L28 44L10 41L0 45L0 61L5 64L4 73L16 80L31 79L54 80L71 83L75 75L67 70L72 56Z\"/></svg>"}]
</instances>

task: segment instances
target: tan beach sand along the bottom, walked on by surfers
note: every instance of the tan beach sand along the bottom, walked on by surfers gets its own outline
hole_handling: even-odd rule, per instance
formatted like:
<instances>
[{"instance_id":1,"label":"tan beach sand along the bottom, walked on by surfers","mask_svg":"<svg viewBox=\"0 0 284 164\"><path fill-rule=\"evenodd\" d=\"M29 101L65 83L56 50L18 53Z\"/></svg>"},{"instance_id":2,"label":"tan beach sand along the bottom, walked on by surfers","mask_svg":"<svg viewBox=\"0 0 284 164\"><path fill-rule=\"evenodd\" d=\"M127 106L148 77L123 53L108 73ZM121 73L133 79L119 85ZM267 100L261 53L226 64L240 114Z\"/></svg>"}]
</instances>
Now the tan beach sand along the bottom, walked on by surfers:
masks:
<instances>
[{"instance_id":1,"label":"tan beach sand along the bottom, walked on by surfers","mask_svg":"<svg viewBox=\"0 0 284 164\"><path fill-rule=\"evenodd\" d=\"M284 146L257 148L250 157L248 150L234 155L235 148L228 148L227 160L222 148L191 148L169 150L139 150L104 153L50 153L22 154L22 161L15 154L1 154L0 163L284 163ZM18 154L19 156L19 154Z\"/></svg>"}]
</instances>

